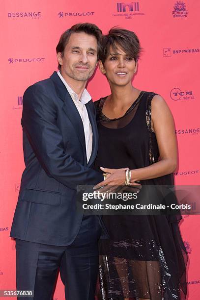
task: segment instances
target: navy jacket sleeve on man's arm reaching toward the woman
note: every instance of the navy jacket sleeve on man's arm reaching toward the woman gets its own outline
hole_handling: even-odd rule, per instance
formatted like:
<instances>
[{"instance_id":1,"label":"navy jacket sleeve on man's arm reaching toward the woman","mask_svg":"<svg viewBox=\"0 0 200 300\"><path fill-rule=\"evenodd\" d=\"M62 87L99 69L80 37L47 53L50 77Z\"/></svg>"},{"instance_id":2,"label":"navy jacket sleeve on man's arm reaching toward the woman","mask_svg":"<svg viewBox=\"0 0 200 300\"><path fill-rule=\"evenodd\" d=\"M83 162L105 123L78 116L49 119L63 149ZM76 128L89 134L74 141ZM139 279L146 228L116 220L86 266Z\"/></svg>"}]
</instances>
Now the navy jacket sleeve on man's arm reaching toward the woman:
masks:
<instances>
[{"instance_id":1,"label":"navy jacket sleeve on man's arm reaching toward the woman","mask_svg":"<svg viewBox=\"0 0 200 300\"><path fill-rule=\"evenodd\" d=\"M54 101L40 85L30 86L23 97L22 126L47 175L76 190L77 185L95 185L103 175L84 167L65 150L57 127Z\"/></svg>"}]
</instances>

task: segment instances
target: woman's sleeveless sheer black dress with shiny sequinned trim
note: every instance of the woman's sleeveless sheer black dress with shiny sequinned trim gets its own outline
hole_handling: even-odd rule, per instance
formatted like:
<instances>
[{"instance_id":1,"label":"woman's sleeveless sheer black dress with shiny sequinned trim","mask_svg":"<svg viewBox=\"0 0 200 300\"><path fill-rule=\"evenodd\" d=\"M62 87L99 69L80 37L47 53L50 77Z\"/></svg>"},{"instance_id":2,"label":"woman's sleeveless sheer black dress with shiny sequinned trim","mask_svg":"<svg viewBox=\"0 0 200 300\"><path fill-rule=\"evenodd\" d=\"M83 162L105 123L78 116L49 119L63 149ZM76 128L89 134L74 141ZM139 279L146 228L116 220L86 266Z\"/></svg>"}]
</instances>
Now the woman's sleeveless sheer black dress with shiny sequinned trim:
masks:
<instances>
[{"instance_id":1,"label":"woman's sleeveless sheer black dress with shiny sequinned trim","mask_svg":"<svg viewBox=\"0 0 200 300\"><path fill-rule=\"evenodd\" d=\"M99 148L95 169L137 169L159 159L151 130L151 100L142 91L125 115L109 119L102 113L105 98L95 102ZM143 180L142 185L173 185L173 175ZM104 215L110 240L100 242L101 297L184 300L187 254L180 235L181 216Z\"/></svg>"}]
</instances>

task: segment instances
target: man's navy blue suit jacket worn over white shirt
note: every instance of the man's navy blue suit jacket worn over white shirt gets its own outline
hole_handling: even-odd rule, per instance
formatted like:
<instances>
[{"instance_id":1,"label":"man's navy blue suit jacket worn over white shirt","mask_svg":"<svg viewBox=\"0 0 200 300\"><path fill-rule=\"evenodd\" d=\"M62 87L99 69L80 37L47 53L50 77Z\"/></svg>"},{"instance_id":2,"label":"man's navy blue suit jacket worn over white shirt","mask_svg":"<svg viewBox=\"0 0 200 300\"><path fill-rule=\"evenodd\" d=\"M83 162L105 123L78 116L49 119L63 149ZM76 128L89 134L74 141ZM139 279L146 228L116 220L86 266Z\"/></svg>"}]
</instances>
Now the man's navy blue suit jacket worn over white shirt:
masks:
<instances>
[{"instance_id":1,"label":"man's navy blue suit jacket worn over white shirt","mask_svg":"<svg viewBox=\"0 0 200 300\"><path fill-rule=\"evenodd\" d=\"M83 122L57 73L26 90L21 122L26 169L11 237L65 246L77 236L83 215L76 212L76 186L103 180L93 170L98 131L92 101L86 109L93 132L88 163Z\"/></svg>"}]
</instances>

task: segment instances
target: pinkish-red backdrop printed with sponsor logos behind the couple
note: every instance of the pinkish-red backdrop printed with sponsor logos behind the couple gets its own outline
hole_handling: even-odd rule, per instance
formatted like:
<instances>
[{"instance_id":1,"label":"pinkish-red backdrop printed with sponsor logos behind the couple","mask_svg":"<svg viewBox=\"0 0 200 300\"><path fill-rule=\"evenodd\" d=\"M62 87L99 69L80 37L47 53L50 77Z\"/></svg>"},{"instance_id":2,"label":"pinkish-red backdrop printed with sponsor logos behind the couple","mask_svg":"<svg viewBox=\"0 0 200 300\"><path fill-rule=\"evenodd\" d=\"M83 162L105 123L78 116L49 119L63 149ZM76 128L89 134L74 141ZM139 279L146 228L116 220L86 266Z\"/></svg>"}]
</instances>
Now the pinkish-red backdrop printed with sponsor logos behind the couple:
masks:
<instances>
[{"instance_id":1,"label":"pinkish-red backdrop printed with sponsor logos behind the couple","mask_svg":"<svg viewBox=\"0 0 200 300\"><path fill-rule=\"evenodd\" d=\"M116 25L133 30L143 48L133 84L167 101L178 141L175 182L199 185L200 1L2 0L0 6L0 289L15 289L15 241L9 233L24 170L20 120L25 89L57 70L57 42L72 25L95 23L103 33ZM87 89L94 101L110 93L99 70ZM200 297L199 228L200 216L183 216L189 300ZM59 277L54 300L64 300Z\"/></svg>"}]
</instances>

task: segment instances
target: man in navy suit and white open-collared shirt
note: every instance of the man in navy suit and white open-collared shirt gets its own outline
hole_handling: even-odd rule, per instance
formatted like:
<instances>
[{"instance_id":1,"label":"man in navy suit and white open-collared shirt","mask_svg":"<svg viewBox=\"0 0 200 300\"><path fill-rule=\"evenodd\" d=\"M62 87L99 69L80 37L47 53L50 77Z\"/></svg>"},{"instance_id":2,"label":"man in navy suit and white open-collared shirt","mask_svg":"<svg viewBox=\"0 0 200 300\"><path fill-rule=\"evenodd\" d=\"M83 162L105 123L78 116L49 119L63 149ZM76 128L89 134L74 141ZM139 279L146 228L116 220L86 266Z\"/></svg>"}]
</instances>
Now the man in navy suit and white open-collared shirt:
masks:
<instances>
[{"instance_id":1,"label":"man in navy suit and white open-collared shirt","mask_svg":"<svg viewBox=\"0 0 200 300\"><path fill-rule=\"evenodd\" d=\"M58 72L23 97L26 169L11 237L16 239L17 289L50 300L58 270L67 300L94 300L98 216L76 212L76 186L95 185L98 133L86 83L97 66L102 32L92 24L65 31L57 45ZM20 298L29 299L29 298Z\"/></svg>"}]
</instances>

